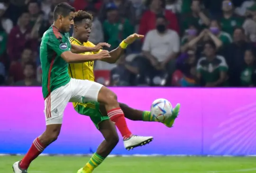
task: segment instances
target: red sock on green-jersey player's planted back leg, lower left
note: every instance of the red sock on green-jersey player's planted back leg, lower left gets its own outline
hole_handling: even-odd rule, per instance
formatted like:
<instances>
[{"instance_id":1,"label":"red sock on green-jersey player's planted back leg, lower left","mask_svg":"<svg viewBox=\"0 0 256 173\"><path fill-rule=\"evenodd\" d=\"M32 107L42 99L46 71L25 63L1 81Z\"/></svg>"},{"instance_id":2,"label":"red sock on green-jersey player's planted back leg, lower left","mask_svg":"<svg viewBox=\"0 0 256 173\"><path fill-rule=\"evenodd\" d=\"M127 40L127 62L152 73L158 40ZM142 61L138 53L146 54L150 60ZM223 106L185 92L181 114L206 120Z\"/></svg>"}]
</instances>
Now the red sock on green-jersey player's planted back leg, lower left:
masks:
<instances>
[{"instance_id":1,"label":"red sock on green-jersey player's planted back leg, lower left","mask_svg":"<svg viewBox=\"0 0 256 173\"><path fill-rule=\"evenodd\" d=\"M36 138L31 147L29 148L27 154L23 157L23 159L20 161L20 168L21 169L27 169L29 164L37 158L43 151L45 147L41 144L39 141L39 138Z\"/></svg>"}]
</instances>

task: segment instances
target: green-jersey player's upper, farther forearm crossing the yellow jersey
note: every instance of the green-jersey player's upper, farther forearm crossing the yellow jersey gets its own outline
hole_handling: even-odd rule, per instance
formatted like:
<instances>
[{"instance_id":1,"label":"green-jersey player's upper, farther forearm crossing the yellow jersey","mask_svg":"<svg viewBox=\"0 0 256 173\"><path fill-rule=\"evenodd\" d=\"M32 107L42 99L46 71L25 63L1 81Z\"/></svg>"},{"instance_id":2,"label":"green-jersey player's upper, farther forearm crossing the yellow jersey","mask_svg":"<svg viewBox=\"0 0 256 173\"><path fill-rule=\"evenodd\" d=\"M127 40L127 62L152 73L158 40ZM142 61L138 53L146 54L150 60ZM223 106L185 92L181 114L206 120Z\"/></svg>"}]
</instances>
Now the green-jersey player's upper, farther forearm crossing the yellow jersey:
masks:
<instances>
[{"instance_id":1,"label":"green-jersey player's upper, farther forearm crossing the yellow jersey","mask_svg":"<svg viewBox=\"0 0 256 173\"><path fill-rule=\"evenodd\" d=\"M99 52L103 46L110 47L110 44L99 43L94 47L87 47L87 46L71 44L71 52L72 53Z\"/></svg>"}]
</instances>

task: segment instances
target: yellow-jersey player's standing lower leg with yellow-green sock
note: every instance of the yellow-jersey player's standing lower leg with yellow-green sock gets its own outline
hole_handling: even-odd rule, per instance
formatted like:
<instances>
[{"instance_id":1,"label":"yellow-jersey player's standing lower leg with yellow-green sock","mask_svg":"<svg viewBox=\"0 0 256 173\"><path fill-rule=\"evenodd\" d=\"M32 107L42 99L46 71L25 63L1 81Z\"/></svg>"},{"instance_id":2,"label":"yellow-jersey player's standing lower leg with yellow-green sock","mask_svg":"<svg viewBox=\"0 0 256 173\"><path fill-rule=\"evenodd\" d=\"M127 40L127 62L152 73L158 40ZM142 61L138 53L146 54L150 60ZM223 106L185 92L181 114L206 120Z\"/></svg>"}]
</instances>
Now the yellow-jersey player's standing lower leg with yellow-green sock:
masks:
<instances>
[{"instance_id":1,"label":"yellow-jersey player's standing lower leg with yellow-green sock","mask_svg":"<svg viewBox=\"0 0 256 173\"><path fill-rule=\"evenodd\" d=\"M91 173L104 161L104 159L118 144L119 137L116 127L110 120L101 121L99 124L99 130L101 131L101 134L105 140L97 148L97 151L91 156L87 164L78 170L77 173Z\"/></svg>"}]
</instances>

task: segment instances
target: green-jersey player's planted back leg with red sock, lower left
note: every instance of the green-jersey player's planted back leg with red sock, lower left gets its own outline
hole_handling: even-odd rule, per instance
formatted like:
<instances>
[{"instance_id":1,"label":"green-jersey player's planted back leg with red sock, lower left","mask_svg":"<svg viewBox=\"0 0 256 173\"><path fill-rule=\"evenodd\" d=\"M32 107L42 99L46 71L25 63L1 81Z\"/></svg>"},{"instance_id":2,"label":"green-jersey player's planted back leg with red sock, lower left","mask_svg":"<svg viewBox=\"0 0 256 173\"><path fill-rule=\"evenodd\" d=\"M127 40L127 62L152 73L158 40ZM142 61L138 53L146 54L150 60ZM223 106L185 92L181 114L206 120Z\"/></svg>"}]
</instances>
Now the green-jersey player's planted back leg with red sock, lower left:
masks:
<instances>
[{"instance_id":1,"label":"green-jersey player's planted back leg with red sock, lower left","mask_svg":"<svg viewBox=\"0 0 256 173\"><path fill-rule=\"evenodd\" d=\"M27 154L22 158L22 160L13 164L13 172L27 173L29 164L35 160L48 145L50 145L58 138L60 130L61 124L47 125L46 131L33 141Z\"/></svg>"}]
</instances>

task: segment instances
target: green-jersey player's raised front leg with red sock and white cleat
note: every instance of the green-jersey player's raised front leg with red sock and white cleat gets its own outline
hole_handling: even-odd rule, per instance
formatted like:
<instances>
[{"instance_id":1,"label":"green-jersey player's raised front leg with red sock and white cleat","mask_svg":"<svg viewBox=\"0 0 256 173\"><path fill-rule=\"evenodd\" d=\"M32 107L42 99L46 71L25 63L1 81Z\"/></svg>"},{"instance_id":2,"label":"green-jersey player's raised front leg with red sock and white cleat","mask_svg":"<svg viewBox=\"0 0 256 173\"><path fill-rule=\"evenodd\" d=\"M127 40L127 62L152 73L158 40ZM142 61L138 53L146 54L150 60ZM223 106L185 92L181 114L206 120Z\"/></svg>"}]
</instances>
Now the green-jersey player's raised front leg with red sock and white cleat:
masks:
<instances>
[{"instance_id":1,"label":"green-jersey player's raised front leg with red sock and white cleat","mask_svg":"<svg viewBox=\"0 0 256 173\"><path fill-rule=\"evenodd\" d=\"M124 146L126 149L129 150L138 146L143 146L153 140L153 137L132 135L131 131L128 129L124 113L117 101L117 96L110 91L110 89L105 86L101 87L98 94L98 102L105 105L110 120L115 123L123 137Z\"/></svg>"}]
</instances>

